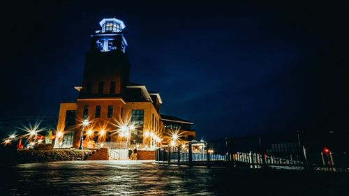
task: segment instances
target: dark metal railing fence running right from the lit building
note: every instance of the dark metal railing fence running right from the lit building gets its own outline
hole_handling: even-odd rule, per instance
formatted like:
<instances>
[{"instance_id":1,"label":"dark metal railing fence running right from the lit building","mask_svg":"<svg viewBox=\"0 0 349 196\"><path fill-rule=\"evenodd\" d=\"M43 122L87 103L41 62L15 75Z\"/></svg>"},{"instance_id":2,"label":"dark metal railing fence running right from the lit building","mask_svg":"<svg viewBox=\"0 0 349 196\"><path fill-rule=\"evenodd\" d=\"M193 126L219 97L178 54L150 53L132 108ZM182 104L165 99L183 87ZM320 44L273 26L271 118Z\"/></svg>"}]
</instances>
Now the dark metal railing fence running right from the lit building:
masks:
<instances>
[{"instance_id":1,"label":"dark metal railing fence running right from the lit building","mask_svg":"<svg viewBox=\"0 0 349 196\"><path fill-rule=\"evenodd\" d=\"M325 154L301 139L297 133L162 146L156 149L156 163L348 172L348 159L339 156L341 164L335 165L333 152Z\"/></svg>"}]
</instances>

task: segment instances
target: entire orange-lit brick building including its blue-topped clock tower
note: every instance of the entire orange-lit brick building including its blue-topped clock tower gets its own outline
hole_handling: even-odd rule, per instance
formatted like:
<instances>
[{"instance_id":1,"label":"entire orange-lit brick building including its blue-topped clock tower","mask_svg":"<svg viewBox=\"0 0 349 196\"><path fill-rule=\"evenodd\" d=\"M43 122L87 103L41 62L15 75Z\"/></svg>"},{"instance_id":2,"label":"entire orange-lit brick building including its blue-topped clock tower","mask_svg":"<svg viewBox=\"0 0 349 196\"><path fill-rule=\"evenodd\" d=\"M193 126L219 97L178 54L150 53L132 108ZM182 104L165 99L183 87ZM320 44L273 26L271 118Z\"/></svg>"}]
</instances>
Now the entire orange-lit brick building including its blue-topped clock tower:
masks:
<instances>
[{"instance_id":1,"label":"entire orange-lit brick building including its blue-topped clock tower","mask_svg":"<svg viewBox=\"0 0 349 196\"><path fill-rule=\"evenodd\" d=\"M159 113L163 103L160 94L129 81L124 22L107 18L100 24L101 30L91 35L91 47L85 54L82 86L75 86L79 96L60 105L57 133L64 135L57 135L55 147L79 147L82 132L84 147L108 142L166 144L162 139L168 133L164 124L169 121ZM82 125L83 121L86 124ZM183 124L189 131L183 139L193 139L191 123Z\"/></svg>"}]
</instances>

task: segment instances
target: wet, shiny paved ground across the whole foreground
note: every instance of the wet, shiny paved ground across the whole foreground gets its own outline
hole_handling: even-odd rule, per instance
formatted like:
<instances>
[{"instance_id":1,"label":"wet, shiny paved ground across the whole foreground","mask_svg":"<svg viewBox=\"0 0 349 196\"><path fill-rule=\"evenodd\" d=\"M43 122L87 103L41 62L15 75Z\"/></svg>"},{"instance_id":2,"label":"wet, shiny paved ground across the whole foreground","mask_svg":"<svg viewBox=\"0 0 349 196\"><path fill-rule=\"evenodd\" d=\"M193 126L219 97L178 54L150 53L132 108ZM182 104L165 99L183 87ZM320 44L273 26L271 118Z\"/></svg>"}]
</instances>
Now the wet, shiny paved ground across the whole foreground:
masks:
<instances>
[{"instance_id":1,"label":"wet, shiny paved ground across the whole foreground","mask_svg":"<svg viewBox=\"0 0 349 196\"><path fill-rule=\"evenodd\" d=\"M348 176L154 165L144 161L32 163L2 168L1 195L334 195ZM348 175L348 174L346 174ZM329 180L331 179L331 180ZM343 192L346 193L346 192Z\"/></svg>"}]
</instances>

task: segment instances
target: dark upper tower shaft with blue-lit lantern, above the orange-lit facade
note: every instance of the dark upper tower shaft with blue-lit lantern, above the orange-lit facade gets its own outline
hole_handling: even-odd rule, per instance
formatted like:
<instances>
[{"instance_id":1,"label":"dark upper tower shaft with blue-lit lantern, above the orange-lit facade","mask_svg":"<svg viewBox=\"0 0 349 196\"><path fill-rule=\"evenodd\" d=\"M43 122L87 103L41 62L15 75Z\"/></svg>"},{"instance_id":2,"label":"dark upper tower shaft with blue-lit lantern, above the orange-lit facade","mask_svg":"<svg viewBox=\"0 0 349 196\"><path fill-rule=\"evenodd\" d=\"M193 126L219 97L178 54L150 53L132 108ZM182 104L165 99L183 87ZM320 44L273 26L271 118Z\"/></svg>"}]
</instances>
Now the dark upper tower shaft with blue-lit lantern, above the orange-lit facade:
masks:
<instances>
[{"instance_id":1,"label":"dark upper tower shaft with blue-lit lantern, above the orange-lit facade","mask_svg":"<svg viewBox=\"0 0 349 196\"><path fill-rule=\"evenodd\" d=\"M91 47L85 54L79 98L122 97L129 82L130 63L126 56L124 22L107 18L99 24L101 30L91 35Z\"/></svg>"}]
</instances>

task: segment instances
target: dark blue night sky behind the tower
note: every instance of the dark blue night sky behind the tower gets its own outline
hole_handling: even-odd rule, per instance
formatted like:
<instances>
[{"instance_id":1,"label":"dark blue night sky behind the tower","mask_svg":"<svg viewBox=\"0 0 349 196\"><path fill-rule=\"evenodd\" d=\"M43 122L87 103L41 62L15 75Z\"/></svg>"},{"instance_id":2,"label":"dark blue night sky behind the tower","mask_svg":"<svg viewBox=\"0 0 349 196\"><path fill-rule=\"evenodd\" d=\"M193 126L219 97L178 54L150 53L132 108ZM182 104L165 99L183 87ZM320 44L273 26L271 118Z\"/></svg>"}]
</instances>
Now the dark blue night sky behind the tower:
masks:
<instances>
[{"instance_id":1,"label":"dark blue night sky behind the tower","mask_svg":"<svg viewBox=\"0 0 349 196\"><path fill-rule=\"evenodd\" d=\"M89 35L113 15L131 82L161 93L161 113L192 121L198 139L349 128L341 1L34 2L1 6L2 132L55 126L60 101L78 95Z\"/></svg>"}]
</instances>

